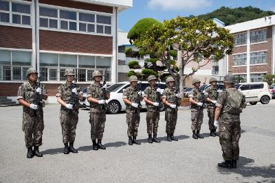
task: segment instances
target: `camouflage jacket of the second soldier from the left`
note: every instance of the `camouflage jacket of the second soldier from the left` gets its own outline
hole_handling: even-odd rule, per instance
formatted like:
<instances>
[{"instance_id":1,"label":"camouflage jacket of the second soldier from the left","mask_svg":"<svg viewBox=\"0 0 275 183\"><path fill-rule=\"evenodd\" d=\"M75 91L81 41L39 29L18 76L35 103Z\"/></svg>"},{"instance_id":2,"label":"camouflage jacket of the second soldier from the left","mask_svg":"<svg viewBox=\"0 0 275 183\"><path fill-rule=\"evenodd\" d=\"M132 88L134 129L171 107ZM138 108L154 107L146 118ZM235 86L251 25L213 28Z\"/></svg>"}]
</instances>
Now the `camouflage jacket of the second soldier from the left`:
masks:
<instances>
[{"instance_id":1,"label":"camouflage jacket of the second soldier from the left","mask_svg":"<svg viewBox=\"0 0 275 183\"><path fill-rule=\"evenodd\" d=\"M69 103L72 96L71 86L72 84L69 86L67 82L65 82L65 84L61 84L61 86L57 88L56 97L61 97L61 99L65 103ZM78 91L78 95L83 95L83 92L80 90L79 86L76 86L76 90ZM74 110L78 110L80 106L78 96L76 97L75 103L76 105L74 105ZM61 106L61 110L65 110L65 109L67 109L65 106Z\"/></svg>"}]
</instances>

